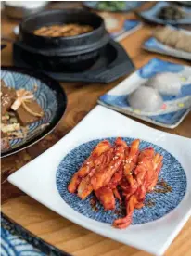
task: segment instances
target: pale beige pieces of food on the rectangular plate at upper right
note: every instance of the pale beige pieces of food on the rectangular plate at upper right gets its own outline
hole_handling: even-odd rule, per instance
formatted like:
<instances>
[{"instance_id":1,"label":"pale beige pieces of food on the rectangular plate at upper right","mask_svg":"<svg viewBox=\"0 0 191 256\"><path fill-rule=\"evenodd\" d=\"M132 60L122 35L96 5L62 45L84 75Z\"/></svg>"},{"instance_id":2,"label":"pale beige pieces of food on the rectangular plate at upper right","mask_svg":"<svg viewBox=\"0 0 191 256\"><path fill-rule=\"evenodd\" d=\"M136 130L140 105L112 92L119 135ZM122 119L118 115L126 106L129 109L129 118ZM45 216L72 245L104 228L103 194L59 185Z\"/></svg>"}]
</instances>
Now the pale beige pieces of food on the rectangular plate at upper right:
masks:
<instances>
[{"instance_id":1,"label":"pale beige pieces of food on the rectangular plate at upper right","mask_svg":"<svg viewBox=\"0 0 191 256\"><path fill-rule=\"evenodd\" d=\"M155 38L162 44L191 53L191 34L172 30L170 27L159 27L153 32Z\"/></svg>"}]
</instances>

